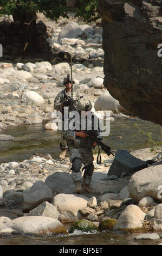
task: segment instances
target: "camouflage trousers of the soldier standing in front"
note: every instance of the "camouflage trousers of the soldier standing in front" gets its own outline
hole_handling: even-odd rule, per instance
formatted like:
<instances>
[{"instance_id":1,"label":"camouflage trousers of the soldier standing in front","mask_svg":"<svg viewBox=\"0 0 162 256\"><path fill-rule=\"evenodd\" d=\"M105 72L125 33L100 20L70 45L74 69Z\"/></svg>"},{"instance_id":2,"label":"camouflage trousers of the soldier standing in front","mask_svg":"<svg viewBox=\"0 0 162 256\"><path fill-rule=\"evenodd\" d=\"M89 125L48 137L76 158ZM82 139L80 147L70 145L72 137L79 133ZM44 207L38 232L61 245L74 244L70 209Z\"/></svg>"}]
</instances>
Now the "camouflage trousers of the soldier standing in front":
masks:
<instances>
[{"instance_id":1,"label":"camouflage trousers of the soldier standing in front","mask_svg":"<svg viewBox=\"0 0 162 256\"><path fill-rule=\"evenodd\" d=\"M70 162L74 162L74 159L78 159L78 165L79 168L76 168L75 170L72 169L72 179L73 181L82 181L82 172L80 170L81 167L81 163L83 163L85 165L85 172L83 175L83 184L87 184L90 185L91 181L92 181L92 175L93 175L93 170L94 170L94 166L93 166L93 153L92 153L92 149L82 149L82 148L74 148L72 147L72 145L70 145L70 147L68 147L69 150L69 159ZM80 161L81 160L81 161Z\"/></svg>"}]
</instances>

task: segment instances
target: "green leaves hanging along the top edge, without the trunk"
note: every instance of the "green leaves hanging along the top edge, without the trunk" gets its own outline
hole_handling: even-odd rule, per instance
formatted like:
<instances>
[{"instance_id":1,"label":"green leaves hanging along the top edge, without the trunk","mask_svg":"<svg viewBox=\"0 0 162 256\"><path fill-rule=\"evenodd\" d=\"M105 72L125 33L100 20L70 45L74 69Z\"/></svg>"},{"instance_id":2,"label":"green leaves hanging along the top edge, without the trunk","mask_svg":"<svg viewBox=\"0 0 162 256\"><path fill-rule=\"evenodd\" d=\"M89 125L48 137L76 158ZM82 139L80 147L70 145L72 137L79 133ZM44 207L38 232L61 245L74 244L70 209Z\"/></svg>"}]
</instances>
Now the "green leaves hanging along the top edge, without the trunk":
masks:
<instances>
[{"instance_id":1,"label":"green leaves hanging along the top edge, without the trunk","mask_svg":"<svg viewBox=\"0 0 162 256\"><path fill-rule=\"evenodd\" d=\"M75 17L82 17L83 20L91 22L99 18L96 14L99 0L76 0ZM37 12L43 13L49 19L57 20L59 17L69 17L66 0L0 0L0 14L13 15Z\"/></svg>"}]
</instances>

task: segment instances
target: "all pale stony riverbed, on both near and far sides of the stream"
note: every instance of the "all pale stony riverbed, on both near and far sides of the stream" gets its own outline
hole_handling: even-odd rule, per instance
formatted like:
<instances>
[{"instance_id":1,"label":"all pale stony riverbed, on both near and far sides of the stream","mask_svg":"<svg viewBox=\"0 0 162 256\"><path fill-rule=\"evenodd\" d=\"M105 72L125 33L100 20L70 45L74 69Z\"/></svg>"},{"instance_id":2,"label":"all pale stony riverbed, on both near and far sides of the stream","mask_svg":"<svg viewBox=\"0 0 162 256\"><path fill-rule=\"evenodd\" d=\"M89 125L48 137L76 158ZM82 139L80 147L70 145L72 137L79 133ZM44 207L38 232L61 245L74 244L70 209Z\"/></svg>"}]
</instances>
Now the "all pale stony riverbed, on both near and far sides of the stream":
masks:
<instances>
[{"instance_id":1,"label":"all pale stony riverbed, on both near and far sides of the stream","mask_svg":"<svg viewBox=\"0 0 162 256\"><path fill-rule=\"evenodd\" d=\"M110 121L116 118L136 120L103 88L101 27L80 26L76 22L69 22L63 28L56 23L53 26L48 28L48 40L57 56L54 62L44 62L42 59L34 61L31 58L11 61L8 58L10 61L0 63L2 141L14 139L3 134L8 126L24 123L33 125L45 122L46 129L57 131L53 101L63 89L64 76L70 74L68 54L62 52L73 54L74 89L92 101L93 111L98 117L103 117L105 111L109 111ZM76 34L71 35L71 31ZM145 168L131 173L123 171L119 176L113 173L108 175L115 160L113 156L102 154L102 163L95 164L93 174L92 186L97 194L74 193L68 158L59 160L51 155L35 153L22 162L2 162L1 236L68 235L76 229L95 233L141 230L141 233L149 233L142 239L155 239L160 243L161 154L151 153L150 149L133 151L131 154L144 161ZM71 229L66 228L67 223ZM155 233L153 236L150 234L152 232Z\"/></svg>"}]
</instances>

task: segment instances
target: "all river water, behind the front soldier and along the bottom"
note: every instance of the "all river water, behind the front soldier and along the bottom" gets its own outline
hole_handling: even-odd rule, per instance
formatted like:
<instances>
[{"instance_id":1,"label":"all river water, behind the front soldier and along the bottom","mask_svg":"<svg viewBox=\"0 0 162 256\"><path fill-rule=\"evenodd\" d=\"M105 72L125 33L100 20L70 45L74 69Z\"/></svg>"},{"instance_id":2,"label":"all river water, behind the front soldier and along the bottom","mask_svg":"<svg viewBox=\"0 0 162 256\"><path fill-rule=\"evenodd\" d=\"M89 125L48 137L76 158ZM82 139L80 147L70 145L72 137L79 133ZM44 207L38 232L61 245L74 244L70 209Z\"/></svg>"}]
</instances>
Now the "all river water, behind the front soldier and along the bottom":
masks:
<instances>
[{"instance_id":1,"label":"all river water, behind the front soldier and along the bottom","mask_svg":"<svg viewBox=\"0 0 162 256\"><path fill-rule=\"evenodd\" d=\"M152 139L160 137L161 126L158 124L141 119L117 119L111 123L111 133L108 137L103 138L103 142L116 151L147 148L147 137L133 126L134 123L138 123L140 129L145 132L151 131ZM0 163L20 162L29 159L34 153L50 154L55 158L60 152L60 132L45 130L44 124L8 127L1 134L12 135L15 140L0 142ZM99 234L76 233L75 235L54 237L7 235L0 237L0 245L157 245L162 242L162 239L135 241L134 236L138 234L140 233L114 231Z\"/></svg>"}]
</instances>

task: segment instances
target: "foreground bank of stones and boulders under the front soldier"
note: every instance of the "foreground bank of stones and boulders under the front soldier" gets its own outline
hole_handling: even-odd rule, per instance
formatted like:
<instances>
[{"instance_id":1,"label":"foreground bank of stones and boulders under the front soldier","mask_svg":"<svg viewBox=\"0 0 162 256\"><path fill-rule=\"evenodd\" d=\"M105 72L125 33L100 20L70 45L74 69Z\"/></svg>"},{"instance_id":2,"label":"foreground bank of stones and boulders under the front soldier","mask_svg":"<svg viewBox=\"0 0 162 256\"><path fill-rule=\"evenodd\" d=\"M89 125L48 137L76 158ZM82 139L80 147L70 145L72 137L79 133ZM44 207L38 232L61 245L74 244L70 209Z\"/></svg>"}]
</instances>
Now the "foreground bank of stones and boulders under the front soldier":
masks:
<instances>
[{"instance_id":1,"label":"foreground bank of stones and boulders under the front soldier","mask_svg":"<svg viewBox=\"0 0 162 256\"><path fill-rule=\"evenodd\" d=\"M138 172L124 172L116 177L108 175L114 157L107 159L107 155L102 154L102 163L95 164L93 174L96 194L75 194L68 157L58 160L50 155L35 154L22 162L2 163L1 236L68 235L75 230L90 233L141 230L141 239L158 239L160 243L161 155L151 153L150 149L131 154L137 159L140 155L142 161L149 158L154 163Z\"/></svg>"}]
</instances>

